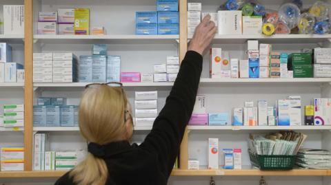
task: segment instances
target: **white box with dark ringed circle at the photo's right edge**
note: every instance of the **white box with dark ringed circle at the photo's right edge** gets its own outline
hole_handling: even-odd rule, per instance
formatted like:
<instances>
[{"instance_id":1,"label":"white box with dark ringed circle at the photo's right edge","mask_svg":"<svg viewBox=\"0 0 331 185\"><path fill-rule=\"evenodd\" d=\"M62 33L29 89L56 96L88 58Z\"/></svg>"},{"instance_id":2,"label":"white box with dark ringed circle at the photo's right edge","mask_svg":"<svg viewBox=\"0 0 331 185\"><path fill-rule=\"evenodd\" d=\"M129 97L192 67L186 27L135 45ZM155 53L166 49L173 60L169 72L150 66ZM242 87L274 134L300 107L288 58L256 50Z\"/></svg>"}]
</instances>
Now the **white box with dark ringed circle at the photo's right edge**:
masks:
<instances>
[{"instance_id":1,"label":"white box with dark ringed circle at the photo's right edge","mask_svg":"<svg viewBox=\"0 0 331 185\"><path fill-rule=\"evenodd\" d=\"M314 111L314 125L331 124L331 98L315 98Z\"/></svg>"}]
</instances>

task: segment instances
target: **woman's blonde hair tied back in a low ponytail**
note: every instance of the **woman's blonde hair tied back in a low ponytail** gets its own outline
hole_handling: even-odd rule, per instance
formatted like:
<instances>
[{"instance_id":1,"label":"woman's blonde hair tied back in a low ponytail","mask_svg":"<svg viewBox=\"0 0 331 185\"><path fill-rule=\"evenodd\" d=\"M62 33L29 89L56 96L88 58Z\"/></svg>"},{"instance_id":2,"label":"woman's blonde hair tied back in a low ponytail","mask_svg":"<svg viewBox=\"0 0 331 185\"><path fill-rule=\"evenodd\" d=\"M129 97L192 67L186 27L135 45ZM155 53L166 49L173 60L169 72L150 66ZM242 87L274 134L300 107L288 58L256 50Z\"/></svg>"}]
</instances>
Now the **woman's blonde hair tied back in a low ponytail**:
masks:
<instances>
[{"instance_id":1,"label":"woman's blonde hair tied back in a low ponytail","mask_svg":"<svg viewBox=\"0 0 331 185\"><path fill-rule=\"evenodd\" d=\"M88 87L79 105L79 129L88 142L108 144L123 140L126 134L124 117L128 99L121 87ZM70 177L77 185L104 185L108 178L106 162L88 153Z\"/></svg>"}]
</instances>

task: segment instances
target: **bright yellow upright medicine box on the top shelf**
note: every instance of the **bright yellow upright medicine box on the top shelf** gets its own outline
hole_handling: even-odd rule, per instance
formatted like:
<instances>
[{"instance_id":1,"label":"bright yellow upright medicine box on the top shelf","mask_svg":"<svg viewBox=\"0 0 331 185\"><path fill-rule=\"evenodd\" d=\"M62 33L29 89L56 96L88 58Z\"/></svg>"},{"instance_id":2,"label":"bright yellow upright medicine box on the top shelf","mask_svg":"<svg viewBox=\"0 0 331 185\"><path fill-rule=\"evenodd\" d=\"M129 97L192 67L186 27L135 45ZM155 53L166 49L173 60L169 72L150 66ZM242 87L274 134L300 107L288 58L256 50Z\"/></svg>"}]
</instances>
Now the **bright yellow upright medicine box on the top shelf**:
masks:
<instances>
[{"instance_id":1,"label":"bright yellow upright medicine box on the top shelf","mask_svg":"<svg viewBox=\"0 0 331 185\"><path fill-rule=\"evenodd\" d=\"M74 34L90 34L90 9L74 9Z\"/></svg>"}]
</instances>

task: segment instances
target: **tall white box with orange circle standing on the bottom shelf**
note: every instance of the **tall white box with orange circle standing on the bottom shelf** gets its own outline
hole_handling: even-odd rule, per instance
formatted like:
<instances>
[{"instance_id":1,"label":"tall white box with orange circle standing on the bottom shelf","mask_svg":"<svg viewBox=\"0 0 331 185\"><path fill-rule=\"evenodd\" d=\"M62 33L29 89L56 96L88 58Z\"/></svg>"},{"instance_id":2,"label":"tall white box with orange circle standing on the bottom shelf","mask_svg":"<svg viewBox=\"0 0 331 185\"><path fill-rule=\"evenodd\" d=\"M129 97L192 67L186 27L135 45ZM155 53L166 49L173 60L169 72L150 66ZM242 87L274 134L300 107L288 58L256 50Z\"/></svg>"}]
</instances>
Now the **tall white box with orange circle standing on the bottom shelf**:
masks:
<instances>
[{"instance_id":1,"label":"tall white box with orange circle standing on the bottom shelf","mask_svg":"<svg viewBox=\"0 0 331 185\"><path fill-rule=\"evenodd\" d=\"M219 138L208 138L208 169L219 168Z\"/></svg>"}]
</instances>

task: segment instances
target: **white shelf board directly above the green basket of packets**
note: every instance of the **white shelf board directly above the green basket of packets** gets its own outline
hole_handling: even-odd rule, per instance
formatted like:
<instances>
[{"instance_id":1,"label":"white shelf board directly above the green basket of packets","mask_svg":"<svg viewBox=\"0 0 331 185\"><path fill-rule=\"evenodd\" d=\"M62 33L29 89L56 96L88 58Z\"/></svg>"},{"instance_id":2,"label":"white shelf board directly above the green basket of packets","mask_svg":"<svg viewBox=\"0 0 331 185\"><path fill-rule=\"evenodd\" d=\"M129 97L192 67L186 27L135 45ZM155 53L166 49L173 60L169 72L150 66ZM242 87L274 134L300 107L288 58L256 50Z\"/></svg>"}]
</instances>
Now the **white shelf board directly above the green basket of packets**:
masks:
<instances>
[{"instance_id":1,"label":"white shelf board directly above the green basket of packets","mask_svg":"<svg viewBox=\"0 0 331 185\"><path fill-rule=\"evenodd\" d=\"M331 130L331 126L188 126L188 129L198 131L225 130L225 131L275 131L275 130L294 130L294 131L324 131Z\"/></svg>"}]
</instances>

